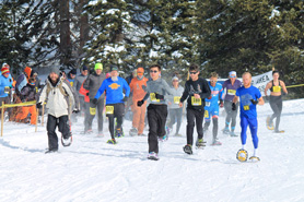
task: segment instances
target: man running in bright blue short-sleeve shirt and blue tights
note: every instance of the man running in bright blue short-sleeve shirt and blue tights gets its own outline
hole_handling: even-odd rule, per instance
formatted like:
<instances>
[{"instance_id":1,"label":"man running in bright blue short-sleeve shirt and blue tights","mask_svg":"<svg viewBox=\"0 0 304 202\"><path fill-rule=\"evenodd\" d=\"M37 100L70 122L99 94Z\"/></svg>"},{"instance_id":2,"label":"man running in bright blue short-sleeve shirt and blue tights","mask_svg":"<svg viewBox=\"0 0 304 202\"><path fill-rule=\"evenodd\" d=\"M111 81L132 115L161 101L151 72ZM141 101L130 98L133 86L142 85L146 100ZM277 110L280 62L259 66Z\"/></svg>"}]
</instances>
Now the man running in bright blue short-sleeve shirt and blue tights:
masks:
<instances>
[{"instance_id":1,"label":"man running in bright blue short-sleeve shirt and blue tights","mask_svg":"<svg viewBox=\"0 0 304 202\"><path fill-rule=\"evenodd\" d=\"M249 158L252 161L259 161L257 157L258 148L258 120L257 120L257 107L256 105L264 105L264 99L259 90L252 86L252 74L249 72L243 73L243 84L244 86L236 90L235 96L232 103L232 110L236 110L236 103L239 97L241 107L241 141L242 148L237 152L237 159L241 162L247 161L247 151L245 150L246 139L247 139L247 127L249 126L253 143L254 143L254 155Z\"/></svg>"}]
</instances>

